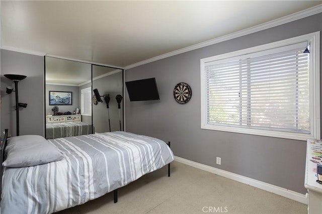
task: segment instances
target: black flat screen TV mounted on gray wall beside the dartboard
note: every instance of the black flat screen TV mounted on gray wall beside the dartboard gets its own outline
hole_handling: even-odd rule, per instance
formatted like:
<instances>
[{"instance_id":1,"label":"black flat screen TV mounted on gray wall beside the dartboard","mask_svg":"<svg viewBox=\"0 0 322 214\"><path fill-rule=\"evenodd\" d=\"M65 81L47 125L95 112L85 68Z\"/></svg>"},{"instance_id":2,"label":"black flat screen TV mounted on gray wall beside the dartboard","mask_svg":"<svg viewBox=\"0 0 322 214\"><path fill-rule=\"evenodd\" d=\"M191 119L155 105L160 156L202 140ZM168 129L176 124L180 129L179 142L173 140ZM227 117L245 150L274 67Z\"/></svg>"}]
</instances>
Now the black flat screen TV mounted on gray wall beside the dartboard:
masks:
<instances>
[{"instance_id":1,"label":"black flat screen TV mounted on gray wall beside the dartboard","mask_svg":"<svg viewBox=\"0 0 322 214\"><path fill-rule=\"evenodd\" d=\"M160 99L155 78L128 81L125 85L130 101Z\"/></svg>"}]
</instances>

